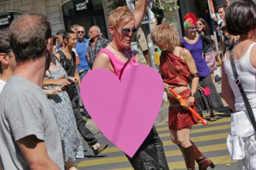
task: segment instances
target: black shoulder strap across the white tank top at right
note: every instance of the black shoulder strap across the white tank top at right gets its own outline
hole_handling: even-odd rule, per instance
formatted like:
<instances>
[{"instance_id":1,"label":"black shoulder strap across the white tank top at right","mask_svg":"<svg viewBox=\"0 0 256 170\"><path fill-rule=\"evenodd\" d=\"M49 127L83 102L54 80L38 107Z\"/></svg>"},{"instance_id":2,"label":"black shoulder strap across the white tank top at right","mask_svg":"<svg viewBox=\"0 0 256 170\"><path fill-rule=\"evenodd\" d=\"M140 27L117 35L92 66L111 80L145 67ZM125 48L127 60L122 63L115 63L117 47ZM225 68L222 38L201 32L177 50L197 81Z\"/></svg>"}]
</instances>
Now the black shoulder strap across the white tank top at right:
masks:
<instances>
[{"instance_id":1,"label":"black shoulder strap across the white tank top at right","mask_svg":"<svg viewBox=\"0 0 256 170\"><path fill-rule=\"evenodd\" d=\"M233 45L230 46L229 48L229 56L230 56L230 65L231 65L231 68L232 68L232 72L234 74L234 78L235 78L235 83L236 85L238 86L240 92L241 92L241 95L243 97L243 101L245 103L245 108L247 110L247 113L249 115L249 118L251 119L251 124L253 124L253 128L256 132L256 121L255 121L255 117L254 117L254 114L253 114L253 110L251 108L251 104L249 103L249 100L247 98L247 95L243 89L243 85L241 84L241 81L238 77L238 74L236 72L236 65L234 65L234 58L233 58L233 49L232 49ZM232 50L230 50L232 49Z\"/></svg>"}]
</instances>

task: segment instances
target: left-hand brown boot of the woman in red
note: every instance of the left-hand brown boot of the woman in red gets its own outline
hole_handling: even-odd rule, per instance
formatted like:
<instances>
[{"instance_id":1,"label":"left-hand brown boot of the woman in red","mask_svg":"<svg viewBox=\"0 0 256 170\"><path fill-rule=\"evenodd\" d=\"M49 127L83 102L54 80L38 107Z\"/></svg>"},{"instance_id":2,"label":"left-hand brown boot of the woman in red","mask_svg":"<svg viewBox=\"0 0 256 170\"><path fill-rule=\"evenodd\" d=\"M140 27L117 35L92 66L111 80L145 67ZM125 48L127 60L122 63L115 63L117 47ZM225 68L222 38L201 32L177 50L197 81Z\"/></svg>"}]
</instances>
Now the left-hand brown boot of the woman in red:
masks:
<instances>
[{"instance_id":1,"label":"left-hand brown boot of the woman in red","mask_svg":"<svg viewBox=\"0 0 256 170\"><path fill-rule=\"evenodd\" d=\"M187 148L183 148L180 145L179 145L179 147L181 149L181 153L183 153L183 157L185 159L187 170L195 170L194 144L192 144L191 146L189 146Z\"/></svg>"}]
</instances>

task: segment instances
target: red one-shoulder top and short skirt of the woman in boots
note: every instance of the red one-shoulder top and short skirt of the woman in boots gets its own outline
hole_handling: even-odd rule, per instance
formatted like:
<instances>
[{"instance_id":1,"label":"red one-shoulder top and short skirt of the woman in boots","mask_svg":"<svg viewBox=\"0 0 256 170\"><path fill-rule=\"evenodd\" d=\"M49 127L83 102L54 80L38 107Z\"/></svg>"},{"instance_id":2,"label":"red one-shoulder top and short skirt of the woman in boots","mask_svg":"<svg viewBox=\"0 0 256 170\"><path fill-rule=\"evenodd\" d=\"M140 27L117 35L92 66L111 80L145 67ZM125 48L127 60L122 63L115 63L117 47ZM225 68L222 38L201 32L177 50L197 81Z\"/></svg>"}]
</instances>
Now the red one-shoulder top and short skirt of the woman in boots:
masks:
<instances>
[{"instance_id":1,"label":"red one-shoulder top and short skirt of the woman in boots","mask_svg":"<svg viewBox=\"0 0 256 170\"><path fill-rule=\"evenodd\" d=\"M177 71L177 73L181 73L187 78L190 75L186 62L183 59L164 50L160 56L159 66L160 74L164 77L164 83L168 83L168 85L170 85L172 88L177 86L187 86L187 81L177 77L177 75L174 75L174 73L170 71L167 64L167 62L169 62L168 60L170 61L170 64L175 69L175 71ZM187 89L179 93L179 95L181 95L183 99L189 99L189 93L190 90ZM168 113L168 124L170 130L181 130L197 124L197 117L191 114L189 110L179 105L179 101L176 99L176 97L168 97L168 100L170 101ZM196 111L195 106L193 107L193 110Z\"/></svg>"}]
</instances>

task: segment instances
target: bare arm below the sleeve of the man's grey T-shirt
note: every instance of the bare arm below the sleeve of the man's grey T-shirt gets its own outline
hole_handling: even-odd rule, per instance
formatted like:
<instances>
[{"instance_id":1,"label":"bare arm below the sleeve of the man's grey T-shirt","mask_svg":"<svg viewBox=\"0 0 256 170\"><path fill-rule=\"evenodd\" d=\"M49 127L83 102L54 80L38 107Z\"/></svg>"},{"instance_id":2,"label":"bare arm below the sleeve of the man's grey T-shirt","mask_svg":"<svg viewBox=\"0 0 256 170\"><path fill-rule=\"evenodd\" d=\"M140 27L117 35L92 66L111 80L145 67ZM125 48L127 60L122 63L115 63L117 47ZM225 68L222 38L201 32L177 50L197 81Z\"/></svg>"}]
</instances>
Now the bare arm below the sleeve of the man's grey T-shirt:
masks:
<instances>
[{"instance_id":1,"label":"bare arm below the sleeve of the man's grey T-shirt","mask_svg":"<svg viewBox=\"0 0 256 170\"><path fill-rule=\"evenodd\" d=\"M17 140L17 143L22 154L26 158L30 169L60 170L60 168L49 157L43 140L39 140L36 136L30 135Z\"/></svg>"}]
</instances>

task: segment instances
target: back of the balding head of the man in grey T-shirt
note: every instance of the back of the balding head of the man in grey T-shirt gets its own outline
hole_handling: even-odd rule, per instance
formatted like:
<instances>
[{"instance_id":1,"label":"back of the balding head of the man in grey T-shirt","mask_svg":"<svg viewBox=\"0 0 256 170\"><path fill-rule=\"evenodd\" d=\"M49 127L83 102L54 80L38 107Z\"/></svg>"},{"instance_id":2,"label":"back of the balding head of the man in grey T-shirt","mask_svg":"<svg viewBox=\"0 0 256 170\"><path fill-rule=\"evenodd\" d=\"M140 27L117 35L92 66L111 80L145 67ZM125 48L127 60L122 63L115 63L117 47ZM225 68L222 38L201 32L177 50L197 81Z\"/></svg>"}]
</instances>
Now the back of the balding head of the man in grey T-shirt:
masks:
<instances>
[{"instance_id":1,"label":"back of the balding head of the man in grey T-shirt","mask_svg":"<svg viewBox=\"0 0 256 170\"><path fill-rule=\"evenodd\" d=\"M44 15L26 13L16 17L9 27L11 49L17 62L42 56L51 38L51 26Z\"/></svg>"}]
</instances>

